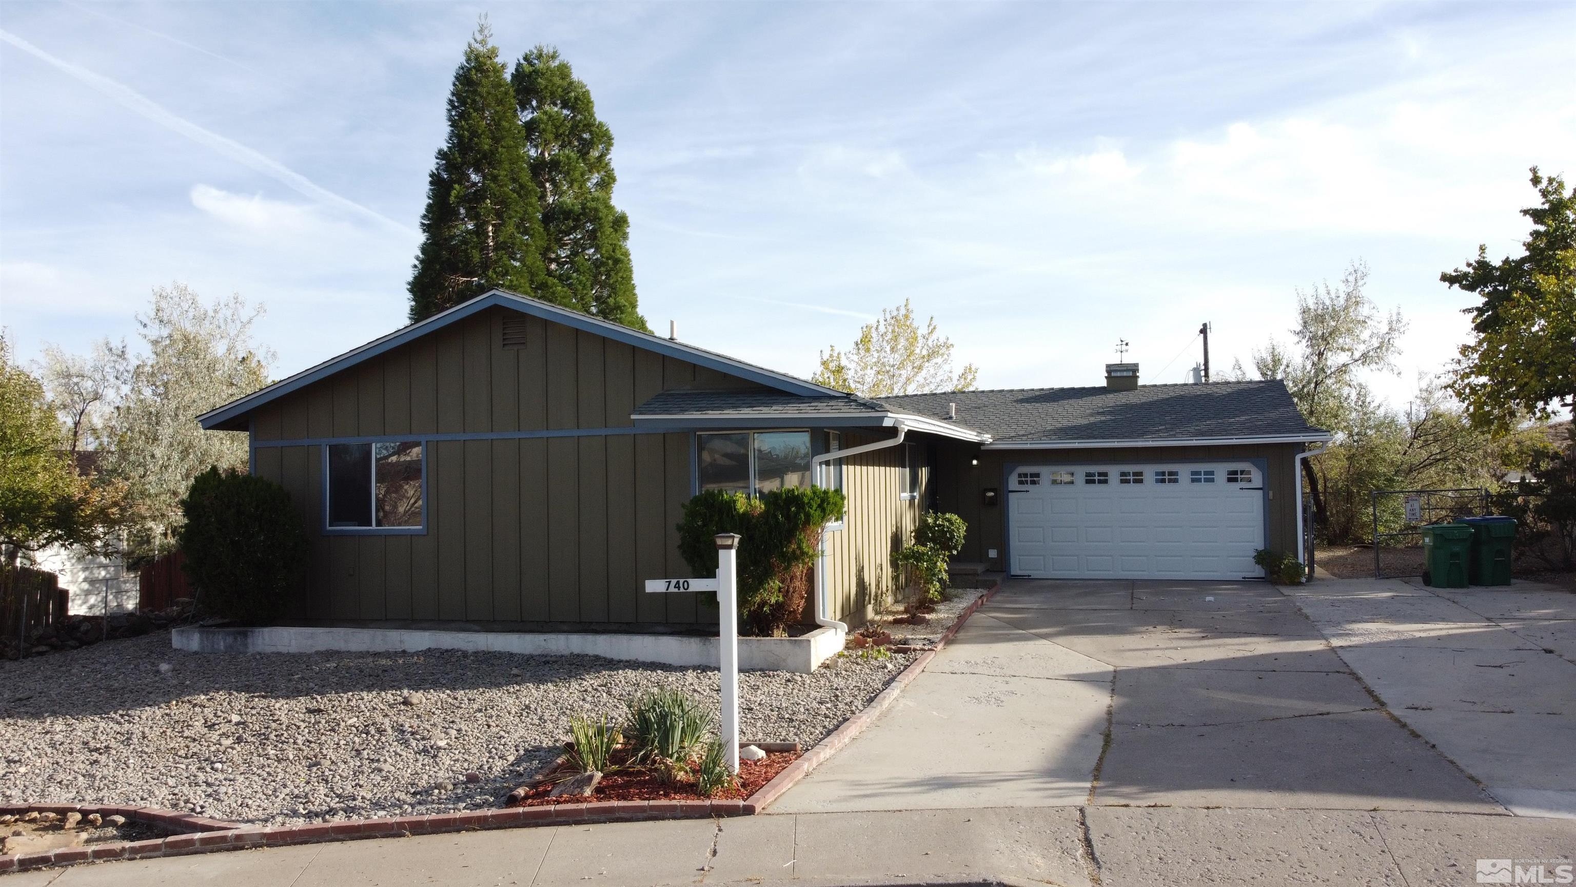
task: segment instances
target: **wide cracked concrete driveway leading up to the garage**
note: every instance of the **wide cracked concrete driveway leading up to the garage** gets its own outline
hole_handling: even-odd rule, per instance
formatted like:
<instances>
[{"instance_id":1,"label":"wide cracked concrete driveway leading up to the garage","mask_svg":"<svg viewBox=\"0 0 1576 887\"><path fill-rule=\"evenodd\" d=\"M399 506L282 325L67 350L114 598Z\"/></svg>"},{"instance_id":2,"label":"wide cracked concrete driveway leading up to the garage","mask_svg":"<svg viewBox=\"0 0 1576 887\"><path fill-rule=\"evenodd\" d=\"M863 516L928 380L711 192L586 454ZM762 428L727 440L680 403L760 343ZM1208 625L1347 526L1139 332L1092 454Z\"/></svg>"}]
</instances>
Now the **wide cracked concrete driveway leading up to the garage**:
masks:
<instances>
[{"instance_id":1,"label":"wide cracked concrete driveway leading up to the garage","mask_svg":"<svg viewBox=\"0 0 1576 887\"><path fill-rule=\"evenodd\" d=\"M772 811L1559 814L1576 666L1529 638L1568 650L1576 597L1508 593L1459 597L1521 633L1404 582L1010 581Z\"/></svg>"}]
</instances>

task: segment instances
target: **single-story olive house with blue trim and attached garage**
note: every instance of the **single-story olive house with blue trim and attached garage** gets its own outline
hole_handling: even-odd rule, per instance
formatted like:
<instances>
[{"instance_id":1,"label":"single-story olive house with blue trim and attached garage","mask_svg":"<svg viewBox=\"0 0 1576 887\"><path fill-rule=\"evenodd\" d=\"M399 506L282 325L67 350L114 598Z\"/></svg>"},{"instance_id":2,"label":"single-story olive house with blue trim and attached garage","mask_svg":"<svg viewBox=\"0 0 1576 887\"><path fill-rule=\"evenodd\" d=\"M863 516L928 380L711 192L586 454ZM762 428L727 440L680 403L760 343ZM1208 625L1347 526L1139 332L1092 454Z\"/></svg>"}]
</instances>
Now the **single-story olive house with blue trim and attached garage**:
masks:
<instances>
[{"instance_id":1,"label":"single-story olive house with blue trim and attached garage","mask_svg":"<svg viewBox=\"0 0 1576 887\"><path fill-rule=\"evenodd\" d=\"M1259 576L1297 549L1297 458L1329 436L1280 382L848 395L492 290L202 418L299 507L301 625L682 631L716 623L687 576L700 489L823 483L813 612L900 595L892 552L925 508L969 524L960 560L1045 578ZM842 625L834 625L842 628Z\"/></svg>"}]
</instances>

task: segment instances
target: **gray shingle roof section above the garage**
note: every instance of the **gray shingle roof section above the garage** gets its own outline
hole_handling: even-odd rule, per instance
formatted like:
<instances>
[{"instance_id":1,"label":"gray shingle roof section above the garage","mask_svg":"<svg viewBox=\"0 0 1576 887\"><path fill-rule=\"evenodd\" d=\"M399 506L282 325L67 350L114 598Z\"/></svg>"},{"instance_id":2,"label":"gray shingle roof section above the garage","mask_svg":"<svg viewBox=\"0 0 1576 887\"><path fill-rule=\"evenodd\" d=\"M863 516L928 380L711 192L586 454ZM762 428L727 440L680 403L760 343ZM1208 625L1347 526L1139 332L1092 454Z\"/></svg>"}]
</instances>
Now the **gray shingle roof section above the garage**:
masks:
<instances>
[{"instance_id":1,"label":"gray shingle roof section above the garage","mask_svg":"<svg viewBox=\"0 0 1576 887\"><path fill-rule=\"evenodd\" d=\"M1303 421L1280 380L1108 388L1009 388L881 398L894 412L947 418L993 442L1165 440L1319 434Z\"/></svg>"}]
</instances>

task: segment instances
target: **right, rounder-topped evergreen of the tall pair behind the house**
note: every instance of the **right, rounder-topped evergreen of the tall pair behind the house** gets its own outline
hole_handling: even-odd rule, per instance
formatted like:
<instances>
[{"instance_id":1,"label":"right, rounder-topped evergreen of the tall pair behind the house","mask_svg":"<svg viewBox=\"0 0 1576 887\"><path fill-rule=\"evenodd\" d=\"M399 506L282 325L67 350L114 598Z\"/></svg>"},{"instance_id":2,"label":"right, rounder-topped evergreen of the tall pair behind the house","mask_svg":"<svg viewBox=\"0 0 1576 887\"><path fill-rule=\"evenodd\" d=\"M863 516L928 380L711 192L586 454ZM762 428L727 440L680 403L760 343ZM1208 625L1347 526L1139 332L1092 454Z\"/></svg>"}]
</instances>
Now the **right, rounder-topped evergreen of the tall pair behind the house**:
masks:
<instances>
[{"instance_id":1,"label":"right, rounder-topped evergreen of the tall pair behind the house","mask_svg":"<svg viewBox=\"0 0 1576 887\"><path fill-rule=\"evenodd\" d=\"M629 216L613 207L613 133L591 90L550 46L514 66L525 156L542 202L542 297L648 330L629 259Z\"/></svg>"}]
</instances>

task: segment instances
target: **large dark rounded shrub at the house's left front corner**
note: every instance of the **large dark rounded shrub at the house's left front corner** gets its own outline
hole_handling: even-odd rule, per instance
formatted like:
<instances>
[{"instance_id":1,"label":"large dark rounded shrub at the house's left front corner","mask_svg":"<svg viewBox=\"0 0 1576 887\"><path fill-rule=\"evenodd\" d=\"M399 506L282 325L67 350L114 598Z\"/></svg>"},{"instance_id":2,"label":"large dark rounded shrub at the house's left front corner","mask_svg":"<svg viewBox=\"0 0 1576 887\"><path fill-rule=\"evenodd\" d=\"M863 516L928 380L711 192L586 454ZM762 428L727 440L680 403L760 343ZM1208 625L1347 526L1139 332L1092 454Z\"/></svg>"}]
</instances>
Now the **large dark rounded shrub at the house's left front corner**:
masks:
<instances>
[{"instance_id":1,"label":"large dark rounded shrub at the house's left front corner","mask_svg":"<svg viewBox=\"0 0 1576 887\"><path fill-rule=\"evenodd\" d=\"M181 513L178 541L199 606L244 623L277 619L307 563L306 529L285 488L208 469L192 480Z\"/></svg>"}]
</instances>

